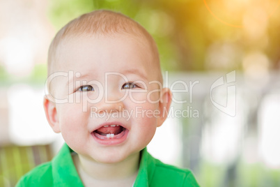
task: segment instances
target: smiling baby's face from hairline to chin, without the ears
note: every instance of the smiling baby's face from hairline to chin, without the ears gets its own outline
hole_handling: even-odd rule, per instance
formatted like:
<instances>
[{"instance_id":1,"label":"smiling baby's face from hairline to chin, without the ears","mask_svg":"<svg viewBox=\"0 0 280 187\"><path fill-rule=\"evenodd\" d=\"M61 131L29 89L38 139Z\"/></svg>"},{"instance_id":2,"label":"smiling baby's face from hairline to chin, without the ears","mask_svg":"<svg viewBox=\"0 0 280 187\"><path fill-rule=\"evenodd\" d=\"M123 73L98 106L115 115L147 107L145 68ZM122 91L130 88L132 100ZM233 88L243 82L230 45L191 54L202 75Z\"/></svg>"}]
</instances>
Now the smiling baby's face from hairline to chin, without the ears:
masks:
<instances>
[{"instance_id":1,"label":"smiling baby's face from hairline to chin, without the ears","mask_svg":"<svg viewBox=\"0 0 280 187\"><path fill-rule=\"evenodd\" d=\"M163 121L160 70L148 43L120 34L79 37L63 43L58 54L56 72L67 76L56 77L53 87L55 131L65 142L102 163L120 162L146 147Z\"/></svg>"}]
</instances>

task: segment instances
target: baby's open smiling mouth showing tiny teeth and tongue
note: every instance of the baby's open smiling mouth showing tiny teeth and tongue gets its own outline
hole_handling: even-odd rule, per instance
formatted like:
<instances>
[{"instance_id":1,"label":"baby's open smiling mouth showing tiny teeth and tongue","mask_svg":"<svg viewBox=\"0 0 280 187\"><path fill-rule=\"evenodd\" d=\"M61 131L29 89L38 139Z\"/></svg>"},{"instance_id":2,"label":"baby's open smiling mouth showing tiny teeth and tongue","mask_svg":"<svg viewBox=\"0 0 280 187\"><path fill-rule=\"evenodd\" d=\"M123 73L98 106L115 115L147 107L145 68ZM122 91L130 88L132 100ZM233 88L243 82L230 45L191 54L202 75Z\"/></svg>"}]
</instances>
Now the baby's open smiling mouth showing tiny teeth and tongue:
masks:
<instances>
[{"instance_id":1,"label":"baby's open smiling mouth showing tiny teeth and tongue","mask_svg":"<svg viewBox=\"0 0 280 187\"><path fill-rule=\"evenodd\" d=\"M120 125L107 125L94 130L93 135L102 140L119 139L125 135L125 130L127 129Z\"/></svg>"}]
</instances>

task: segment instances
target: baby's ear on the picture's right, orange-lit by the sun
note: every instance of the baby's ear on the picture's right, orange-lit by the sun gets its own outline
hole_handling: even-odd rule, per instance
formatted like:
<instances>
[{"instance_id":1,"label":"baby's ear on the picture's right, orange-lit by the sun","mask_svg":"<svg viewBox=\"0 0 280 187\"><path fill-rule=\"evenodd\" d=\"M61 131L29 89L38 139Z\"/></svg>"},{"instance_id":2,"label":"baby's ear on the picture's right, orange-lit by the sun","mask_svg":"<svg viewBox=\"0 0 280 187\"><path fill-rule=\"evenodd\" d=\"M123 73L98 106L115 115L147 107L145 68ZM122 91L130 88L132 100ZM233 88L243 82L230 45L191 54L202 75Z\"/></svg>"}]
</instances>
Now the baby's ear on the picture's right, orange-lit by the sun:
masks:
<instances>
[{"instance_id":1,"label":"baby's ear on the picture's right, orange-lit by the sun","mask_svg":"<svg viewBox=\"0 0 280 187\"><path fill-rule=\"evenodd\" d=\"M160 96L160 103L159 103L159 110L160 116L157 119L157 126L162 126L163 122L165 121L166 117L169 113L169 107L171 105L172 93L169 88L162 89L162 94Z\"/></svg>"}]
</instances>

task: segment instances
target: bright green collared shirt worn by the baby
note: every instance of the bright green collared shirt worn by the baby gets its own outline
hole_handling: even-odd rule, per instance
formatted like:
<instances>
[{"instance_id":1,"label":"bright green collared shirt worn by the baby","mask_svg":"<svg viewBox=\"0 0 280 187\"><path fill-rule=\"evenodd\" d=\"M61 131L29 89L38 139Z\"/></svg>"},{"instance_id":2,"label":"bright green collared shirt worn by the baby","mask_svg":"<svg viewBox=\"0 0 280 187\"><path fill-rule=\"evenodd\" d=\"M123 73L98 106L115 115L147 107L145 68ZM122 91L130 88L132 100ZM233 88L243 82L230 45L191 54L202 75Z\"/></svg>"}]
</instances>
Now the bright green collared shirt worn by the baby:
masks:
<instances>
[{"instance_id":1,"label":"bright green collared shirt worn by the baby","mask_svg":"<svg viewBox=\"0 0 280 187\"><path fill-rule=\"evenodd\" d=\"M59 154L52 161L38 165L25 174L17 183L18 186L84 186L75 168L71 156L72 150L64 144ZM199 186L189 170L166 165L148 154L147 149L141 151L141 161L134 187L145 186Z\"/></svg>"}]
</instances>

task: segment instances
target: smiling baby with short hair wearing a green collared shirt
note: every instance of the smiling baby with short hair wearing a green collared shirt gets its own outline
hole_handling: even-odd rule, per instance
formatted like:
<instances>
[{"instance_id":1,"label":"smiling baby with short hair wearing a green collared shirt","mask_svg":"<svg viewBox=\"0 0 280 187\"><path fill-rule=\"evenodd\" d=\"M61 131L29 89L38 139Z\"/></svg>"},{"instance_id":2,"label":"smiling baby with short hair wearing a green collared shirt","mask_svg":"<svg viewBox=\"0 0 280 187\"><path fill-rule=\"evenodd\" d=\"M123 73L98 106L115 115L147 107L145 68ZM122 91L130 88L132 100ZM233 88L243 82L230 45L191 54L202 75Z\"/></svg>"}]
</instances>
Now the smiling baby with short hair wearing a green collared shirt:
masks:
<instances>
[{"instance_id":1,"label":"smiling baby with short hair wearing a green collared shirt","mask_svg":"<svg viewBox=\"0 0 280 187\"><path fill-rule=\"evenodd\" d=\"M146 146L166 119L157 46L137 22L109 10L81 15L49 47L45 113L65 144L17 186L199 186Z\"/></svg>"}]
</instances>

